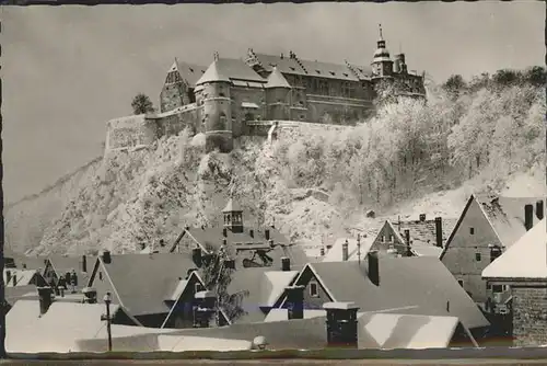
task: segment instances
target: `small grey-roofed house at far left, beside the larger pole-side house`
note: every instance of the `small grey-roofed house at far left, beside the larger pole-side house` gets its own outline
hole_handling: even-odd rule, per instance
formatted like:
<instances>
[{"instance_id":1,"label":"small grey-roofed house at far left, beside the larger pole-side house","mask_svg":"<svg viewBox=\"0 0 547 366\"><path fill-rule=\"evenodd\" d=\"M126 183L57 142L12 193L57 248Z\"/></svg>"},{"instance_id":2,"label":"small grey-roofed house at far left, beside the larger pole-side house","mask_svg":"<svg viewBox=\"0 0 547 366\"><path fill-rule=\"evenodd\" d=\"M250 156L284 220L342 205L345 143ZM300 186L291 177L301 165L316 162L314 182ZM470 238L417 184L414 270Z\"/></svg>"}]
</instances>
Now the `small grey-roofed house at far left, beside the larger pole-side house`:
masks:
<instances>
[{"instance_id":1,"label":"small grey-roofed house at far left, beside the larger pole-side house","mask_svg":"<svg viewBox=\"0 0 547 366\"><path fill-rule=\"evenodd\" d=\"M93 256L50 255L45 260L44 278L48 284L57 285L60 276L66 277L72 271L77 274L77 289L85 287L89 279L88 262L93 262ZM69 286L69 284L67 284Z\"/></svg>"}]
</instances>

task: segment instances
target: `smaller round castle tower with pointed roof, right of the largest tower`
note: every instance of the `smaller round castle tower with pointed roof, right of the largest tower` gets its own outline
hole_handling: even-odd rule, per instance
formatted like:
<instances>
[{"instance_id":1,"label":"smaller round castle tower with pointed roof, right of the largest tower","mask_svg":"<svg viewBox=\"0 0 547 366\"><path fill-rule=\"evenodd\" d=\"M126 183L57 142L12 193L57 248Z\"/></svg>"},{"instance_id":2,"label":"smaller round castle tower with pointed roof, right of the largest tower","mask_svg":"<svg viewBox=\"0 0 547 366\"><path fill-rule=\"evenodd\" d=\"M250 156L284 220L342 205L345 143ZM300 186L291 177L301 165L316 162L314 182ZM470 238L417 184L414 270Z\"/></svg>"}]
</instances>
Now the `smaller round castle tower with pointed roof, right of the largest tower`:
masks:
<instances>
[{"instance_id":1,"label":"smaller round castle tower with pointed roof, right of the largest tower","mask_svg":"<svg viewBox=\"0 0 547 366\"><path fill-rule=\"evenodd\" d=\"M266 89L266 113L268 119L289 119L291 85L275 66L268 76Z\"/></svg>"}]
</instances>

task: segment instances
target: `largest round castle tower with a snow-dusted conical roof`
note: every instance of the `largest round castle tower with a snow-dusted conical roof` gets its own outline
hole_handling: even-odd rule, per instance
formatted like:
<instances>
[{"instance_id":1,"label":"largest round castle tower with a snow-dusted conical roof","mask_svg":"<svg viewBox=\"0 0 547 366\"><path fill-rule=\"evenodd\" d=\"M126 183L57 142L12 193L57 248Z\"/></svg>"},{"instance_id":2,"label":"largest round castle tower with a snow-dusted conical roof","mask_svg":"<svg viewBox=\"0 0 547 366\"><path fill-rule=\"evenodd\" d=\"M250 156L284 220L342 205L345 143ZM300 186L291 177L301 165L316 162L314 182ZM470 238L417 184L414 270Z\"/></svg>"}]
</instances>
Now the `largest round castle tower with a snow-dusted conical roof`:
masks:
<instances>
[{"instance_id":1,"label":"largest round castle tower with a snow-dusted conical roof","mask_svg":"<svg viewBox=\"0 0 547 366\"><path fill-rule=\"evenodd\" d=\"M219 55L196 82L198 100L202 102L201 121L205 125L206 151L233 149L232 107L230 99L231 81L220 68Z\"/></svg>"}]
</instances>

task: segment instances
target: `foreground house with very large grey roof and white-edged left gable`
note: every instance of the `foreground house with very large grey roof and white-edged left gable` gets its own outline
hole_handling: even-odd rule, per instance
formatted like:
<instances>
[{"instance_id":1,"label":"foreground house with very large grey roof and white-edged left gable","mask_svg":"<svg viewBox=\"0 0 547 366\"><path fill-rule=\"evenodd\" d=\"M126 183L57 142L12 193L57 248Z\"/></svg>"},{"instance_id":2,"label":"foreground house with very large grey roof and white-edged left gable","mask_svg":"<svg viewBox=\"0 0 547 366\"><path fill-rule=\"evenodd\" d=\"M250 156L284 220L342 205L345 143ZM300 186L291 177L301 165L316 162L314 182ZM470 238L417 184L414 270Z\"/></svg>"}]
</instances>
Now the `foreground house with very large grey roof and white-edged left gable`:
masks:
<instances>
[{"instance_id":1,"label":"foreground house with very large grey roof and white-edged left gable","mask_svg":"<svg viewBox=\"0 0 547 366\"><path fill-rule=\"evenodd\" d=\"M321 309L328 301L352 301L368 312L457 317L476 333L490 325L435 258L379 258L369 252L361 263L309 263L291 285L302 286L304 309ZM278 304L280 308L291 306L287 294Z\"/></svg>"}]
</instances>

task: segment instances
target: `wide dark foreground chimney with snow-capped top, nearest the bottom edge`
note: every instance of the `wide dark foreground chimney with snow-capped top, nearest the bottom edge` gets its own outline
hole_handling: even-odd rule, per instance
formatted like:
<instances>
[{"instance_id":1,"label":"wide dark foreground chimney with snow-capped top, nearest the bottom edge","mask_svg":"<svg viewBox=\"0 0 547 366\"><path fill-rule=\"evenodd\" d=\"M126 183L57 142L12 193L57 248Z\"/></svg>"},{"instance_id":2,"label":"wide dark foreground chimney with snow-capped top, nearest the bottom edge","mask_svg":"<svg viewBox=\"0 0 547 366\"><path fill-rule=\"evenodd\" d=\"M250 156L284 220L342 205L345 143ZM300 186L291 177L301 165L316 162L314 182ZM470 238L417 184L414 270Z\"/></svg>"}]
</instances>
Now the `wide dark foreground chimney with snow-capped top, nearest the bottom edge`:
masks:
<instances>
[{"instance_id":1,"label":"wide dark foreground chimney with snow-capped top, nearest the bottom edge","mask_svg":"<svg viewBox=\"0 0 547 366\"><path fill-rule=\"evenodd\" d=\"M328 346L357 348L359 307L353 302L326 302L323 309L327 311Z\"/></svg>"}]
</instances>

